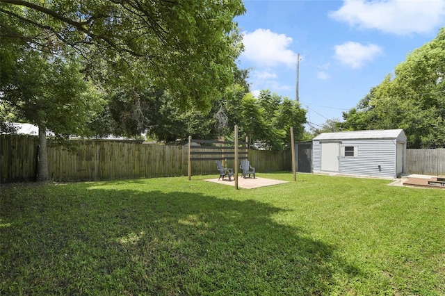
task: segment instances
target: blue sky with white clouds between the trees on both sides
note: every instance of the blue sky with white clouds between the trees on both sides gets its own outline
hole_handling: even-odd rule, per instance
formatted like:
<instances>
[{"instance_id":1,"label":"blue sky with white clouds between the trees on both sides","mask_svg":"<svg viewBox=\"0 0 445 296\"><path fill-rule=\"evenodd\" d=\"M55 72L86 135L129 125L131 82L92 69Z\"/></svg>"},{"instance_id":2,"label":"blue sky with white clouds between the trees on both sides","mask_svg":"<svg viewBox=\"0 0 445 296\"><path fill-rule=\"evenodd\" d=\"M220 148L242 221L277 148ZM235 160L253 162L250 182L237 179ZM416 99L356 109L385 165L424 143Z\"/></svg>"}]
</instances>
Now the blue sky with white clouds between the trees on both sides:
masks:
<instances>
[{"instance_id":1,"label":"blue sky with white clouds between the trees on both sides","mask_svg":"<svg viewBox=\"0 0 445 296\"><path fill-rule=\"evenodd\" d=\"M251 90L299 98L315 127L341 120L445 26L445 0L244 0L236 17Z\"/></svg>"}]
</instances>

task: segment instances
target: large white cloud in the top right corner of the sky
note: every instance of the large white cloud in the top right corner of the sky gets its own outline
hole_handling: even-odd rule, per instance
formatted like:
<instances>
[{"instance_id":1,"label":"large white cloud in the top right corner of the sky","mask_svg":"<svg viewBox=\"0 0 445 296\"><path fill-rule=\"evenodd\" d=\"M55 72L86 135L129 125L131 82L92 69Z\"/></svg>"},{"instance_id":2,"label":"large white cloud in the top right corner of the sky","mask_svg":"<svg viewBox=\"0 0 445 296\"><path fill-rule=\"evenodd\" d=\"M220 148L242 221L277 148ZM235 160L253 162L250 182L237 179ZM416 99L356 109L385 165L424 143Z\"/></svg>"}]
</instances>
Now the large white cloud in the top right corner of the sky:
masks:
<instances>
[{"instance_id":1,"label":"large white cloud in the top right corner of the sky","mask_svg":"<svg viewBox=\"0 0 445 296\"><path fill-rule=\"evenodd\" d=\"M430 33L445 25L445 0L343 0L330 17L388 33Z\"/></svg>"}]
</instances>

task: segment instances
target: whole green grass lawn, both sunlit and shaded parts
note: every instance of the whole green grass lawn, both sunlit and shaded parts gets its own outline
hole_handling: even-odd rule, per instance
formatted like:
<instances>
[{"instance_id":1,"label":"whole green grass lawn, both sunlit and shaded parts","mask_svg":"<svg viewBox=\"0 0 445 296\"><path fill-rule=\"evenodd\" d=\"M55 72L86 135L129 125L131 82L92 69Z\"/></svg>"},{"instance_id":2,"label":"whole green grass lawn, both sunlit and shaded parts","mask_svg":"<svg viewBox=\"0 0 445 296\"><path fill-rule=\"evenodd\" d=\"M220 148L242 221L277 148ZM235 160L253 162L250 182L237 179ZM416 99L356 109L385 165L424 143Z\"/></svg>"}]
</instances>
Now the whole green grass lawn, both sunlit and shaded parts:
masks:
<instances>
[{"instance_id":1,"label":"whole green grass lawn, both sunlit and shaded parts","mask_svg":"<svg viewBox=\"0 0 445 296\"><path fill-rule=\"evenodd\" d=\"M205 177L1 186L0 295L445 295L445 190Z\"/></svg>"}]
</instances>

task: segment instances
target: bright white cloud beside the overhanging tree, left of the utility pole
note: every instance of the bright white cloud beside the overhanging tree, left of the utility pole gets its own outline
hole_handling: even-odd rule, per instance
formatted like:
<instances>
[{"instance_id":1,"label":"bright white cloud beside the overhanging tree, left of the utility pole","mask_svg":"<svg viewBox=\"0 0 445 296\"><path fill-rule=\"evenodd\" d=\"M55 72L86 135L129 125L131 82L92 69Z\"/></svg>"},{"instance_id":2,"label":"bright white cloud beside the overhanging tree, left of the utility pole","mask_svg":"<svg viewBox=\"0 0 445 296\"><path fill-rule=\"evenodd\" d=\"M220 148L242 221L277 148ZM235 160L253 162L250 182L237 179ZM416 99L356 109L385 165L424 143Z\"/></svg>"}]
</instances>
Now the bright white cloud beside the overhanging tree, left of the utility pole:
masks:
<instances>
[{"instance_id":1,"label":"bright white cloud beside the overhanging tree, left of the utility pole","mask_svg":"<svg viewBox=\"0 0 445 296\"><path fill-rule=\"evenodd\" d=\"M289 49L292 41L284 34L258 28L252 33L244 33L245 51L241 56L261 66L284 64L292 67L297 61L297 54Z\"/></svg>"}]
</instances>

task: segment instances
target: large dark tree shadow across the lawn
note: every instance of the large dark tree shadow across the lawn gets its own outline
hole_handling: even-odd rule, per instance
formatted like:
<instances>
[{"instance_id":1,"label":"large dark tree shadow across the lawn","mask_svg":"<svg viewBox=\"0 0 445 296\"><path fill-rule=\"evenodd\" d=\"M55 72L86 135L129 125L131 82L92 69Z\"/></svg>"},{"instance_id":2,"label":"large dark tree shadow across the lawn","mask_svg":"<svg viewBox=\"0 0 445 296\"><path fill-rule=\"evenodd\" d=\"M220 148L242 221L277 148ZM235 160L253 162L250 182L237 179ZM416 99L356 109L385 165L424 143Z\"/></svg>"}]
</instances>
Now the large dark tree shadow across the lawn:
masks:
<instances>
[{"instance_id":1,"label":"large dark tree shadow across the lawn","mask_svg":"<svg viewBox=\"0 0 445 296\"><path fill-rule=\"evenodd\" d=\"M268 204L79 186L6 195L0 294L322 295L359 273Z\"/></svg>"}]
</instances>

